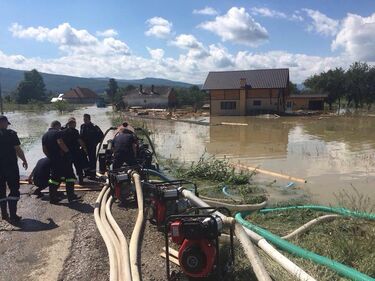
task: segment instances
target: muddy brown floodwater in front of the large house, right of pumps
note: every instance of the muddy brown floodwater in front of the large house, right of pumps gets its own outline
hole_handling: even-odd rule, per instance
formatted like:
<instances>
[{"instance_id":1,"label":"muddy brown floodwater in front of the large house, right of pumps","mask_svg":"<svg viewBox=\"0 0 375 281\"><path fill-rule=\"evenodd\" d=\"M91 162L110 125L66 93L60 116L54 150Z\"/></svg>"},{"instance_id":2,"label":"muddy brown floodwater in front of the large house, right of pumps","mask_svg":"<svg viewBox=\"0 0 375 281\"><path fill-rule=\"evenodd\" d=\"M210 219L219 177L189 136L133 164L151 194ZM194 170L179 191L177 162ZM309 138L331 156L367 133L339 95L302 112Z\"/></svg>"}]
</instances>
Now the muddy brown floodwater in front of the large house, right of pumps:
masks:
<instances>
[{"instance_id":1,"label":"muddy brown floodwater in front of the large house, right of pumps","mask_svg":"<svg viewBox=\"0 0 375 281\"><path fill-rule=\"evenodd\" d=\"M165 157L194 161L207 150L234 162L305 178L308 183L296 187L320 203L334 203L335 194L352 192L352 186L375 202L375 118L215 117L210 127L157 120L149 124ZM279 186L287 184L277 181Z\"/></svg>"}]
</instances>

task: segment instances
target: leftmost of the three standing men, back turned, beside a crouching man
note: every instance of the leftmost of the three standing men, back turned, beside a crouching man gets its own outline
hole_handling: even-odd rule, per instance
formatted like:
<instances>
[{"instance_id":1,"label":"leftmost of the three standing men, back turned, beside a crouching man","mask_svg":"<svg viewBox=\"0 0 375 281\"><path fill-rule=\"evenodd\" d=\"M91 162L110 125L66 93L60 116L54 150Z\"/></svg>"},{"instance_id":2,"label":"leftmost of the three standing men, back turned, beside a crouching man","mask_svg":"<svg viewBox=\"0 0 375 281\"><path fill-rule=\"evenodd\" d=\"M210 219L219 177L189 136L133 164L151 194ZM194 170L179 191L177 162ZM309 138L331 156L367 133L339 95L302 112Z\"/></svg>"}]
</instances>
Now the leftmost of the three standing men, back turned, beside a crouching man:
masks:
<instances>
[{"instance_id":1,"label":"leftmost of the three standing men, back turned, beside a crouching man","mask_svg":"<svg viewBox=\"0 0 375 281\"><path fill-rule=\"evenodd\" d=\"M51 177L49 179L50 203L57 204L61 200L57 189L62 181L65 181L69 203L79 200L80 198L74 193L75 175L72 167L72 156L63 141L59 121L51 123L51 128L43 135L42 146L44 154L51 160Z\"/></svg>"}]
</instances>

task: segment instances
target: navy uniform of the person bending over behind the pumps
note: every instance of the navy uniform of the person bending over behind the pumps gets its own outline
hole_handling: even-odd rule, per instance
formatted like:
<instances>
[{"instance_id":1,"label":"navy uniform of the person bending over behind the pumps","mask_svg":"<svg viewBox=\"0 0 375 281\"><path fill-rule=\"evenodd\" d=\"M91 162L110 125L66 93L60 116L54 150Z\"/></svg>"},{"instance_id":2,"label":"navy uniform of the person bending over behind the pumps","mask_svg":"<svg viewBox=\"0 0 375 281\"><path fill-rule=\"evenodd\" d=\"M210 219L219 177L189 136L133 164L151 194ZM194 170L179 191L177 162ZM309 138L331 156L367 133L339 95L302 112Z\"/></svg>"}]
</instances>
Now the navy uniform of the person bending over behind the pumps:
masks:
<instances>
[{"instance_id":1,"label":"navy uniform of the person bending over behind the pumps","mask_svg":"<svg viewBox=\"0 0 375 281\"><path fill-rule=\"evenodd\" d=\"M136 143L136 136L127 130L113 139L113 169L120 168L124 163L130 166L137 163L133 150Z\"/></svg>"}]
</instances>

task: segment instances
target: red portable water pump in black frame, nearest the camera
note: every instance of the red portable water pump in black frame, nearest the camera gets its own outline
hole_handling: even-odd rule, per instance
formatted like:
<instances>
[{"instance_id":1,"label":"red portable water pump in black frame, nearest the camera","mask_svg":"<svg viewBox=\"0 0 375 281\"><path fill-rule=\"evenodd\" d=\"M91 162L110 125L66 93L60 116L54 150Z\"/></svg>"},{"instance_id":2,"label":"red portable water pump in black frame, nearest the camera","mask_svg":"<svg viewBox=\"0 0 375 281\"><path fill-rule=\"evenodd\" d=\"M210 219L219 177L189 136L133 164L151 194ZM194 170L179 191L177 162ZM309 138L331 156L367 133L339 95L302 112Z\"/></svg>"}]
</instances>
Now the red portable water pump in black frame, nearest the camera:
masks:
<instances>
[{"instance_id":1,"label":"red portable water pump in black frame, nearest the camera","mask_svg":"<svg viewBox=\"0 0 375 281\"><path fill-rule=\"evenodd\" d=\"M209 214L200 212L211 210ZM212 211L213 210L213 211ZM220 280L219 236L223 230L223 221L213 208L194 208L195 214L173 215L167 219L165 231L166 268L170 280L169 235L179 245L178 261L185 275L190 278L213 276ZM231 257L234 260L233 230L230 230Z\"/></svg>"}]
</instances>

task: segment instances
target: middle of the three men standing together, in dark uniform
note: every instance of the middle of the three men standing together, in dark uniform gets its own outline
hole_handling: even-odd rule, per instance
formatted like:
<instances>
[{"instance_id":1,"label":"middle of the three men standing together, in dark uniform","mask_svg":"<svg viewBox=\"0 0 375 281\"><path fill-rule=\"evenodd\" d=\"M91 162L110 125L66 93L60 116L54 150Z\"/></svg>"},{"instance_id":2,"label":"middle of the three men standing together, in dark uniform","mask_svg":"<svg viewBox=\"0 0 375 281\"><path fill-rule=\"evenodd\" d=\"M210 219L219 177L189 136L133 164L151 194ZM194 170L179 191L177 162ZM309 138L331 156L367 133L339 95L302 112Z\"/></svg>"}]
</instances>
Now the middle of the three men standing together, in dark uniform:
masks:
<instances>
[{"instance_id":1,"label":"middle of the three men standing together, in dark uniform","mask_svg":"<svg viewBox=\"0 0 375 281\"><path fill-rule=\"evenodd\" d=\"M72 158L76 174L78 176L79 184L83 184L83 169L88 168L87 162L87 149L86 145L79 136L79 132L76 129L77 122L74 117L70 117L66 128L63 130L63 140L68 147ZM82 148L82 150L80 149Z\"/></svg>"}]
</instances>

